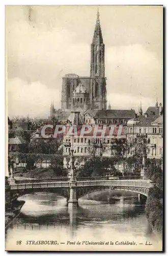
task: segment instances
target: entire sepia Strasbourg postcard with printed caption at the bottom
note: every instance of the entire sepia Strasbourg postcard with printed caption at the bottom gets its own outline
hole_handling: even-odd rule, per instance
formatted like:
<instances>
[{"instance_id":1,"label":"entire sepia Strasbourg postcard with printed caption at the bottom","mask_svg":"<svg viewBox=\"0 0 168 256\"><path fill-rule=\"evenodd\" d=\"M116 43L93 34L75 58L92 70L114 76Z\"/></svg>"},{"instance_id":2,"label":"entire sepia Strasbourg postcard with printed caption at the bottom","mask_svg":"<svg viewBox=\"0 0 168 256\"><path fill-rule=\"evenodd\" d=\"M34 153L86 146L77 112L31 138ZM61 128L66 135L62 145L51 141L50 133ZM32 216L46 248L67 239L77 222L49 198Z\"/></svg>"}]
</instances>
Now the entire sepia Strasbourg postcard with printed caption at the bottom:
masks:
<instances>
[{"instance_id":1,"label":"entire sepia Strasbourg postcard with printed caption at the bottom","mask_svg":"<svg viewBox=\"0 0 168 256\"><path fill-rule=\"evenodd\" d=\"M163 6L6 6L7 251L162 251Z\"/></svg>"}]
</instances>

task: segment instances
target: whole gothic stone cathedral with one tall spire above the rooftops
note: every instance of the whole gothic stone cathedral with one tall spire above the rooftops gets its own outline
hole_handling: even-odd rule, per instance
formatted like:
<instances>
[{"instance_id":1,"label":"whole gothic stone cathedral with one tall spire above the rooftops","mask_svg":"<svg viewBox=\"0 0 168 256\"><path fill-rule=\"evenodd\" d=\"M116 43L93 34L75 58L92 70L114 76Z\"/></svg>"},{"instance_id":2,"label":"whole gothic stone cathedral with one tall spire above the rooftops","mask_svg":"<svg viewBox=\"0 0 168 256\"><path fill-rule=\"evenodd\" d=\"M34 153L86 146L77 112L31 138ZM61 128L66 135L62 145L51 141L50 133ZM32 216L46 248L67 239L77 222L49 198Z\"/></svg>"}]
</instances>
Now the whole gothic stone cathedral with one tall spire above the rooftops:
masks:
<instances>
[{"instance_id":1,"label":"whole gothic stone cathedral with one tall spire above the rooftops","mask_svg":"<svg viewBox=\"0 0 168 256\"><path fill-rule=\"evenodd\" d=\"M86 111L106 109L106 77L104 72L104 44L99 12L91 44L90 76L67 74L63 78L61 108Z\"/></svg>"}]
</instances>

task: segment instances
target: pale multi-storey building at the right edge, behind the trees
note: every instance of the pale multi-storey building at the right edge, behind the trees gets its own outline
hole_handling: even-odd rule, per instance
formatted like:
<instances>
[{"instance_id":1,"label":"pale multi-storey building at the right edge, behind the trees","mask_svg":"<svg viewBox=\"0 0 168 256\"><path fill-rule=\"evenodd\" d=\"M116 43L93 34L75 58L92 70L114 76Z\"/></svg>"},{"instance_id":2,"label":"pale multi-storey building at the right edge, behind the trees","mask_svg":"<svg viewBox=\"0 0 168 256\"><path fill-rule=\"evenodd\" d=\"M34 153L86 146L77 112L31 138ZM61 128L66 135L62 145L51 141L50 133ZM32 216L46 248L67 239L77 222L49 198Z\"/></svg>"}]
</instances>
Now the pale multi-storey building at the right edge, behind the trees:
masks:
<instances>
[{"instance_id":1,"label":"pale multi-storey building at the right edge, behind the trees","mask_svg":"<svg viewBox=\"0 0 168 256\"><path fill-rule=\"evenodd\" d=\"M127 156L133 154L133 145L139 135L144 135L146 138L148 158L161 158L163 154L163 116L145 114L127 122Z\"/></svg>"}]
</instances>

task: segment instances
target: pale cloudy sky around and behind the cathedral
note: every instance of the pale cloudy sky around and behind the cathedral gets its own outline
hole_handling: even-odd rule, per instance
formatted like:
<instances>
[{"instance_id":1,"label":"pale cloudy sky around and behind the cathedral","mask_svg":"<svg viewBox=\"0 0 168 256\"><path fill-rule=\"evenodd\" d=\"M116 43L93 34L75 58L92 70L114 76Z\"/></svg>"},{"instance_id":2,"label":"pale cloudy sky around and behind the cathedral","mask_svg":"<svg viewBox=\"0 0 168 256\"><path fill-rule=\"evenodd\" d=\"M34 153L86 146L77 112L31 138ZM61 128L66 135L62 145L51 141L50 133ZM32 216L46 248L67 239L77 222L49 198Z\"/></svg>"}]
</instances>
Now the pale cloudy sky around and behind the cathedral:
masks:
<instances>
[{"instance_id":1,"label":"pale cloudy sky around and behind the cathedral","mask_svg":"<svg viewBox=\"0 0 168 256\"><path fill-rule=\"evenodd\" d=\"M100 6L107 100L143 111L162 102L162 7ZM9 116L47 117L61 108L62 76L90 75L96 6L7 6Z\"/></svg>"}]
</instances>

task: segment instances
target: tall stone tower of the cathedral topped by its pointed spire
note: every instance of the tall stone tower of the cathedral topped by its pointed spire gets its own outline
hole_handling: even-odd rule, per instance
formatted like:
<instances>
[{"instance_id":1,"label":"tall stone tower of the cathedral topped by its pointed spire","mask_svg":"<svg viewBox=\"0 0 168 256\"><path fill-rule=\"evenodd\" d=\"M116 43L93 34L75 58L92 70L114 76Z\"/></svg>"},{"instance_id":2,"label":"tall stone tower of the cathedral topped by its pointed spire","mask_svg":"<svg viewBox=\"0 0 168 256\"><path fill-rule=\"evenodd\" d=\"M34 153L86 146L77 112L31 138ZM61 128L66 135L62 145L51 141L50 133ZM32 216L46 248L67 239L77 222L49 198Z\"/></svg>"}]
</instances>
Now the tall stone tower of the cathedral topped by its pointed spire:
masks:
<instances>
[{"instance_id":1,"label":"tall stone tower of the cathedral topped by its pointed spire","mask_svg":"<svg viewBox=\"0 0 168 256\"><path fill-rule=\"evenodd\" d=\"M106 78L104 77L104 44L101 33L99 11L97 11L97 20L95 32L91 44L91 95L92 108L106 109Z\"/></svg>"}]
</instances>

